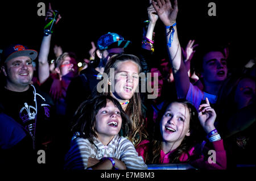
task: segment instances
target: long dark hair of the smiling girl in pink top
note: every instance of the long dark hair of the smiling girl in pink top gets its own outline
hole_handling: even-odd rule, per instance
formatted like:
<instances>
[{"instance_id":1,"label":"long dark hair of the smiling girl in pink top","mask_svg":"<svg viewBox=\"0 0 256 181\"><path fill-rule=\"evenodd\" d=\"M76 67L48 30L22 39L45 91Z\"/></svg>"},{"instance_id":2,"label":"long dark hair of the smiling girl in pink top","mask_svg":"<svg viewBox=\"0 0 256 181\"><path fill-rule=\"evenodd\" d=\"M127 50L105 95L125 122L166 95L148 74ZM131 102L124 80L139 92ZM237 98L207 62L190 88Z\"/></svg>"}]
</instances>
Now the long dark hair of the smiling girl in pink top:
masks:
<instances>
[{"instance_id":1,"label":"long dark hair of the smiling girl in pink top","mask_svg":"<svg viewBox=\"0 0 256 181\"><path fill-rule=\"evenodd\" d=\"M175 100L172 103L181 103L184 107L187 107L189 110L189 132L190 136L185 136L181 144L174 150L172 154L170 154L170 163L180 163L180 156L183 153L188 155L187 161L191 158L188 151L194 146L197 142L201 141L201 138L204 136L203 128L200 125L200 121L198 119L198 113L196 108L189 103L187 100L179 99ZM170 106L170 104L167 104ZM145 153L144 158L147 164L156 164L162 163L160 160L160 151L162 150L162 135L160 133L160 121L166 112L167 107L164 107L160 112L158 119L156 119L156 129L154 134L154 140L150 141L148 152Z\"/></svg>"}]
</instances>

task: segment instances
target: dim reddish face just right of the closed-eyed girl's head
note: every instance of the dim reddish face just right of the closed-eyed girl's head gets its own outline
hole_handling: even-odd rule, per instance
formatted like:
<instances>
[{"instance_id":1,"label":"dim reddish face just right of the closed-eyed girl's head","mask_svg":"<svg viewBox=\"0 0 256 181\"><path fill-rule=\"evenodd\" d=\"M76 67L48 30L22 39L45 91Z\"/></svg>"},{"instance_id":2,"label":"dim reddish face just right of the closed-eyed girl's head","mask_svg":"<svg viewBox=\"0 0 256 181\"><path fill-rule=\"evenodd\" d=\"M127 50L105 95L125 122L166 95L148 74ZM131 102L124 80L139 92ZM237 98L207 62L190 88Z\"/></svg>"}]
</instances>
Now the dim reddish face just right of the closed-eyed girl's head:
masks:
<instances>
[{"instance_id":1,"label":"dim reddish face just right of the closed-eyed girl's head","mask_svg":"<svg viewBox=\"0 0 256 181\"><path fill-rule=\"evenodd\" d=\"M152 89L154 89L153 92L157 92L158 97L160 97L161 92L162 92L162 87L163 87L163 76L162 76L160 70L157 68L151 68L150 72L151 72L152 78L151 78L151 81L148 83L150 83ZM155 75L154 75L154 73L155 73ZM153 79L154 77L158 78L158 82L154 81L154 79Z\"/></svg>"}]
</instances>

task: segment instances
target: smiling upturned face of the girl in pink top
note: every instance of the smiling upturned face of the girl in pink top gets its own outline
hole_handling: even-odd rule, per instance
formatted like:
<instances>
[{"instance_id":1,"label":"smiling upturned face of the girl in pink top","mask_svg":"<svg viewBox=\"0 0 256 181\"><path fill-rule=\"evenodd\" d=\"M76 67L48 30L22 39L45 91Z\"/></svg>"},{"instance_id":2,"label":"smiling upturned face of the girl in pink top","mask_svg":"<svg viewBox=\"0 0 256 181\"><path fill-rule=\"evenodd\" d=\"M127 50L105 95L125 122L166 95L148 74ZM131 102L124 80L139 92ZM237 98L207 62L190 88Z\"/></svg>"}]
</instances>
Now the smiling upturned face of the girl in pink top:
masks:
<instances>
[{"instance_id":1,"label":"smiling upturned face of the girl in pink top","mask_svg":"<svg viewBox=\"0 0 256 181\"><path fill-rule=\"evenodd\" d=\"M184 104L171 103L160 121L160 132L163 141L180 144L185 136L189 136L189 110Z\"/></svg>"}]
</instances>

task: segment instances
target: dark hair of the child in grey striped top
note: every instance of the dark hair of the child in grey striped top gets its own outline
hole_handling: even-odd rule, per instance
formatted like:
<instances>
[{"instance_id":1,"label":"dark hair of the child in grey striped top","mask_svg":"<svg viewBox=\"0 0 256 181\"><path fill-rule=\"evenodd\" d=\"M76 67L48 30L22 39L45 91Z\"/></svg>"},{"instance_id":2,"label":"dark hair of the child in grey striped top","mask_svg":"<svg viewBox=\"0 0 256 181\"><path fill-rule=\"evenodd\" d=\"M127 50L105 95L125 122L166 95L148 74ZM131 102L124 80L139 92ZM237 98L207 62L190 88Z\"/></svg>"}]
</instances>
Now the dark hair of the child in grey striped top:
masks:
<instances>
[{"instance_id":1,"label":"dark hair of the child in grey striped top","mask_svg":"<svg viewBox=\"0 0 256 181\"><path fill-rule=\"evenodd\" d=\"M77 109L73 117L72 132L76 133L77 136L82 138L88 138L90 142L93 142L94 137L97 138L95 132L96 128L96 115L102 107L106 107L108 101L113 102L113 104L118 108L122 117L121 129L125 132L130 130L131 121L127 117L126 113L123 111L119 102L109 95L97 95L93 99L85 100L82 102Z\"/></svg>"}]
</instances>

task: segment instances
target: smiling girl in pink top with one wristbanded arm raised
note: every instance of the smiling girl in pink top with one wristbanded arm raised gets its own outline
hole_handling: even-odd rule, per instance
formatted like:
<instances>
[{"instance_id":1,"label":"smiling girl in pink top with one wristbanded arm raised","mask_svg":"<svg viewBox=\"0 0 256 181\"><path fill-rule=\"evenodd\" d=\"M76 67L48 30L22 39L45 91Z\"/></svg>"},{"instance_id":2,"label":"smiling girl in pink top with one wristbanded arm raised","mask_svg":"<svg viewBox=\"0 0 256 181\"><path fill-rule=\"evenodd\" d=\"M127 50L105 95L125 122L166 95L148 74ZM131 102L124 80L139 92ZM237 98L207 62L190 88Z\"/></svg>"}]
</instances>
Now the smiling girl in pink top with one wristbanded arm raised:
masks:
<instances>
[{"instance_id":1,"label":"smiling girl in pink top with one wristbanded arm raised","mask_svg":"<svg viewBox=\"0 0 256 181\"><path fill-rule=\"evenodd\" d=\"M208 99L199 110L197 113L191 103L183 100L170 103L156 122L155 140L143 140L137 148L145 163L189 163L198 169L226 169L226 151L214 127L216 113ZM211 161L207 159L212 155L208 155L209 149L198 144L204 138L202 127L211 143L209 146L216 151Z\"/></svg>"}]
</instances>

